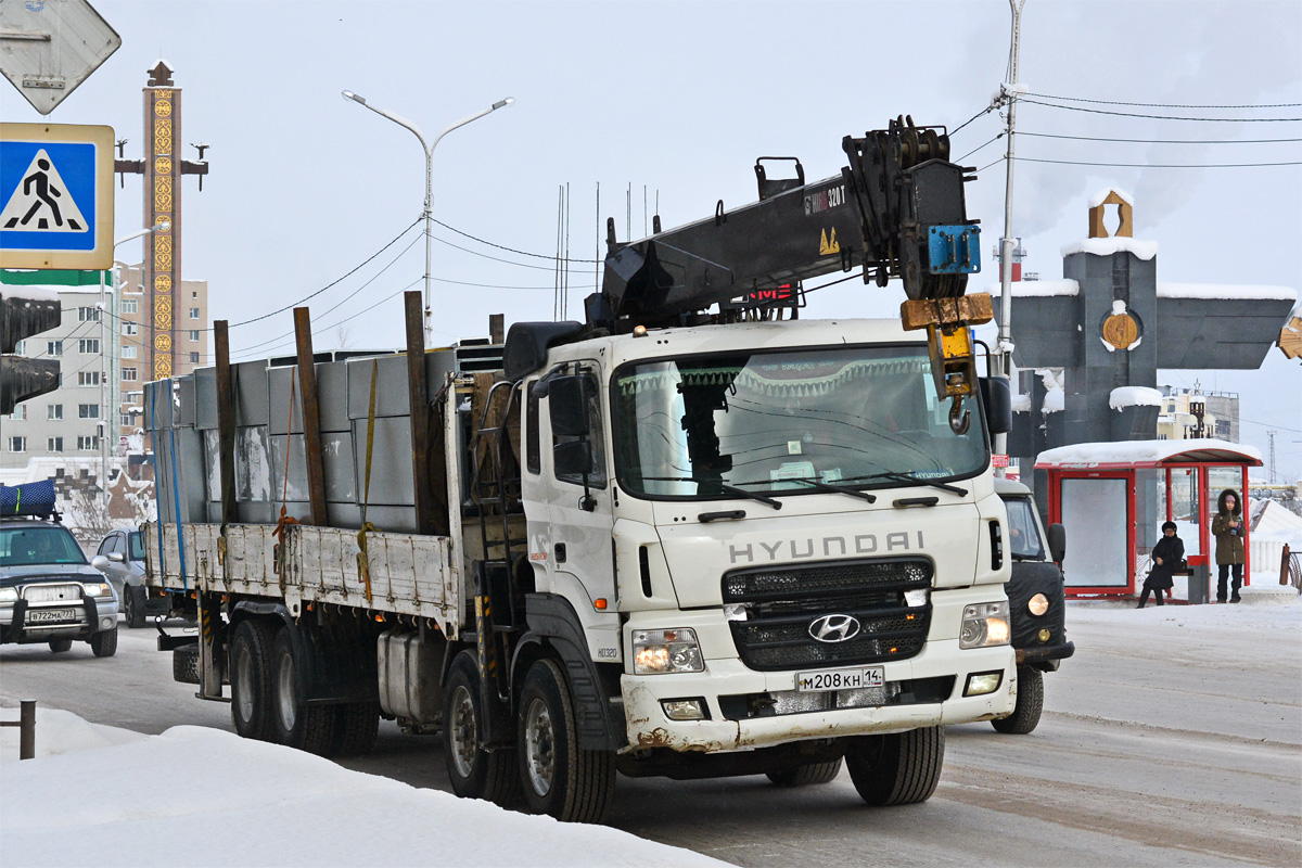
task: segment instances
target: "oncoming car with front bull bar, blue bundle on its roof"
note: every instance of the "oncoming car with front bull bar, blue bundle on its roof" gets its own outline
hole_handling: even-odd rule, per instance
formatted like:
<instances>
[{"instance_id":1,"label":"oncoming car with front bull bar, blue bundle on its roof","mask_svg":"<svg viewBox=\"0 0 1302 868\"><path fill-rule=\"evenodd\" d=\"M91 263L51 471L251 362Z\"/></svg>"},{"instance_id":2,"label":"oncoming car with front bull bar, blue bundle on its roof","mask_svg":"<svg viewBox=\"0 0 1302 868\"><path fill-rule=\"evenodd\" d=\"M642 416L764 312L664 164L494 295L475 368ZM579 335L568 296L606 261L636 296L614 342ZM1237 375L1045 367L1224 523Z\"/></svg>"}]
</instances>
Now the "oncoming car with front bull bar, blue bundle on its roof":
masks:
<instances>
[{"instance_id":1,"label":"oncoming car with front bull bar, blue bundle on its roof","mask_svg":"<svg viewBox=\"0 0 1302 868\"><path fill-rule=\"evenodd\" d=\"M89 642L96 657L117 651L117 595L68 528L46 518L0 519L0 643Z\"/></svg>"}]
</instances>

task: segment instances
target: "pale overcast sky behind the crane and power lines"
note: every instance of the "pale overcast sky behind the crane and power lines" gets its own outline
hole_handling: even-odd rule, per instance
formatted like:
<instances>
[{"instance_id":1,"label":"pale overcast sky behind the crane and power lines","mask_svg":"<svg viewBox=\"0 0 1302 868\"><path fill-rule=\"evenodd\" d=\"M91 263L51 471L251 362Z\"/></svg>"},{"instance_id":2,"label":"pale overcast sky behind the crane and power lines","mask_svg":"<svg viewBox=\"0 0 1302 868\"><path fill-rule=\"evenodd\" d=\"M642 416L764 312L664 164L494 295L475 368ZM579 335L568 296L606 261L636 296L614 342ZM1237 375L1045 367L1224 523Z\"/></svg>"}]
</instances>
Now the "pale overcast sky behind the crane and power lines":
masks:
<instances>
[{"instance_id":1,"label":"pale overcast sky behind the crane and power lines","mask_svg":"<svg viewBox=\"0 0 1302 868\"><path fill-rule=\"evenodd\" d=\"M538 256L436 228L434 328L444 341L484 334L491 312L508 321L552 319L556 276L546 256L557 249L559 187L570 193L569 256L591 260L605 217L616 219L622 241L629 225L634 237L644 234L656 202L664 225L673 226L711 215L719 199L727 207L754 200L756 156L798 156L810 180L836 174L846 134L884 128L898 115L956 130L987 108L1005 78L1010 21L1006 0L94 5L122 47L48 117L0 85L0 115L107 124L130 139L126 157L139 159L141 91L147 70L165 59L184 94L182 141L211 144L203 191L197 178L185 178L182 250L184 276L208 281L214 319L238 323L290 305L346 275L419 217L424 159L415 137L345 102L341 90L409 118L431 141L514 96L510 108L439 144L434 212L474 238ZM1297 0L1029 0L1022 23L1019 78L1034 94L1194 107L1293 103L1075 105L1302 117ZM1017 155L1027 159L1146 167L1302 161L1295 141L1242 142L1302 138L1295 121L1170 121L1023 103L1017 126L1051 135L1216 142L1027 135L1017 141ZM988 258L1004 229L1004 143L987 144L1000 129L997 113L987 113L953 137L953 156L984 169L967 186L969 215L984 229L978 288L996 280ZM1087 234L1087 200L1103 187L1133 195L1135 237L1159 245L1159 281L1302 288L1302 165L1019 161L1013 234L1023 238L1029 271L1061 276L1059 251ZM138 176L117 189L116 211L117 237L143 225ZM124 245L118 258L139 262L139 245ZM314 298L316 346L398 345L401 290L421 288L423 252L411 229L370 267ZM570 316L581 315L594 268L572 267ZM815 293L810 306L824 316L894 316L901 299L896 288L850 282ZM288 312L233 328L232 349L237 357L283 351L273 338L292 328ZM1266 431L1277 429L1280 475L1302 475L1298 362L1272 349L1260 371L1170 371L1159 380L1238 392L1243 441L1266 454Z\"/></svg>"}]
</instances>

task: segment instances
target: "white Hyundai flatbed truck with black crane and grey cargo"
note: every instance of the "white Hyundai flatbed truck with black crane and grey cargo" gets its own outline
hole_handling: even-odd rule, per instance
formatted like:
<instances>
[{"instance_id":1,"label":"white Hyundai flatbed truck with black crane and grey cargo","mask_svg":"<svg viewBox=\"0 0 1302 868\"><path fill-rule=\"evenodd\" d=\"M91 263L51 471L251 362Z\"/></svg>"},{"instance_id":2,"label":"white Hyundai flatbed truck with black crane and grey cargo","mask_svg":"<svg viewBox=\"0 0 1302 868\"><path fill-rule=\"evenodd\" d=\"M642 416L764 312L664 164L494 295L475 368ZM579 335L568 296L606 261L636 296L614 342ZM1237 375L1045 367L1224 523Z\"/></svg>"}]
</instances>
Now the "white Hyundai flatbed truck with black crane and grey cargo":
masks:
<instances>
[{"instance_id":1,"label":"white Hyundai flatbed truck with black crane and grey cargo","mask_svg":"<svg viewBox=\"0 0 1302 868\"><path fill-rule=\"evenodd\" d=\"M756 165L759 203L611 238L587 321L504 346L424 351L414 293L405 355L232 367L219 324L217 367L146 398L147 580L199 622L160 636L176 677L326 755L380 716L441 729L458 795L561 820L602 821L621 773L844 763L870 804L927 799L943 726L1014 708L990 450L1010 413L975 377L990 305L962 295L948 139L845 147L838 178ZM879 174L914 202L874 206ZM854 267L901 269L926 334L797 319L801 280Z\"/></svg>"}]
</instances>

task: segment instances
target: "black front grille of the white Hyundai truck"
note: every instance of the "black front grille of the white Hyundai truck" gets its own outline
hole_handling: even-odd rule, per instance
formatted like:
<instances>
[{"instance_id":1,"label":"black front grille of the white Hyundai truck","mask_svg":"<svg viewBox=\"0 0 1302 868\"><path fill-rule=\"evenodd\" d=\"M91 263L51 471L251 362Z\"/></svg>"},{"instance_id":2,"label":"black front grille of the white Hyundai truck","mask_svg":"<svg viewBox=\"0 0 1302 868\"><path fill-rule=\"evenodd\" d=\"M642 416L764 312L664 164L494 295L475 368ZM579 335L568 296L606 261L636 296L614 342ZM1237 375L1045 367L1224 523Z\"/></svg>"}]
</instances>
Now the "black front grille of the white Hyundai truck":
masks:
<instances>
[{"instance_id":1,"label":"black front grille of the white Hyundai truck","mask_svg":"<svg viewBox=\"0 0 1302 868\"><path fill-rule=\"evenodd\" d=\"M907 605L906 591L931 587L931 561L884 558L724 575L725 604L741 604L745 621L729 621L742 661L751 669L855 665L913 657L927 639L931 604ZM844 642L810 632L825 614L852 616L858 631Z\"/></svg>"}]
</instances>

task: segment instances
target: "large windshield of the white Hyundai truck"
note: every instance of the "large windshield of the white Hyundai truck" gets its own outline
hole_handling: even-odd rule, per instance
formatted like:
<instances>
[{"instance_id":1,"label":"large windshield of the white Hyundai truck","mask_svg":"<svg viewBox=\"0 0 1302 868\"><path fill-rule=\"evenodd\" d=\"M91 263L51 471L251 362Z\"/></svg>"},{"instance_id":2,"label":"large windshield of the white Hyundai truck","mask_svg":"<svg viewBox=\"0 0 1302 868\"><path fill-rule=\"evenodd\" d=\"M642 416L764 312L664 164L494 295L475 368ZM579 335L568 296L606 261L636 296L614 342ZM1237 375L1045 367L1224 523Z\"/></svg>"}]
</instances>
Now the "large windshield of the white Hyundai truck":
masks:
<instances>
[{"instance_id":1,"label":"large windshield of the white Hyundai truck","mask_svg":"<svg viewBox=\"0 0 1302 868\"><path fill-rule=\"evenodd\" d=\"M622 366L613 381L616 471L646 497L823 495L926 485L980 472L976 402L949 428L924 346L845 346L700 355ZM891 475L891 476L888 476ZM913 479L901 479L901 475Z\"/></svg>"}]
</instances>

